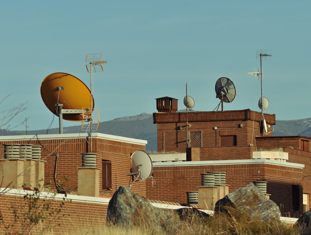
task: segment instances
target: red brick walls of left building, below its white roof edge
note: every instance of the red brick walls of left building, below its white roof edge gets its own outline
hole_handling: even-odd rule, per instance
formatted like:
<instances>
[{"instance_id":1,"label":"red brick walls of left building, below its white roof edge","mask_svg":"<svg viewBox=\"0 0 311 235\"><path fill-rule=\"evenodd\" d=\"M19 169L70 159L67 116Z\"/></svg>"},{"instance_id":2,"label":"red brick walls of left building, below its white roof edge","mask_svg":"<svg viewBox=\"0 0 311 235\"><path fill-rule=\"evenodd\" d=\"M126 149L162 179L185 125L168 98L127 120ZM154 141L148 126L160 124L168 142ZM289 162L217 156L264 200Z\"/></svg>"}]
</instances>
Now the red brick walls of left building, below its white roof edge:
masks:
<instances>
[{"instance_id":1,"label":"red brick walls of left building, below its white roof edge","mask_svg":"<svg viewBox=\"0 0 311 235\"><path fill-rule=\"evenodd\" d=\"M33 145L42 145L42 157L47 161L44 165L45 182L53 183L55 155L59 154L57 164L56 179L65 184L66 189L76 191L78 185L78 169L81 167L81 153L86 152L85 138L60 138L59 139L44 139L42 138L32 140L16 140L16 141L0 141L0 158L3 158L4 147L3 144L12 143L27 143ZM118 141L113 139L93 138L92 152L97 153L97 168L102 168L102 159L111 160L112 163L112 194L120 185L128 186L131 179L125 174L130 173L131 163L130 156L136 150L145 150L144 145L130 143L129 141ZM51 154L52 152L53 154ZM67 180L64 177L69 177ZM100 189L102 185L102 171L100 170ZM139 192L141 196L146 196L145 182L135 182L132 190ZM107 191L106 191L107 192ZM110 191L108 191L110 193ZM112 196L109 194L108 196ZM105 196L104 194L102 194Z\"/></svg>"}]
</instances>

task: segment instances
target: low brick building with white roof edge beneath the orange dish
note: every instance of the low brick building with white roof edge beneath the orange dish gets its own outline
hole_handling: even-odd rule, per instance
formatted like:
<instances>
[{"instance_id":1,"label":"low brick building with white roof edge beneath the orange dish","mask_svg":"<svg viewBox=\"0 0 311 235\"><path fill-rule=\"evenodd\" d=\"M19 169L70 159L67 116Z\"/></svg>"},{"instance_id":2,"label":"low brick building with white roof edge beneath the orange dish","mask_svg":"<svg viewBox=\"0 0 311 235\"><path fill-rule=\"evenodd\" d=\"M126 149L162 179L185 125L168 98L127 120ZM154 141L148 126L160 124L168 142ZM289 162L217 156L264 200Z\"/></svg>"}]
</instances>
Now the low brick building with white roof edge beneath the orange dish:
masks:
<instances>
[{"instance_id":1,"label":"low brick building with white roof edge beneath the orange dish","mask_svg":"<svg viewBox=\"0 0 311 235\"><path fill-rule=\"evenodd\" d=\"M77 191L78 168L82 167L81 153L85 153L88 134L53 134L36 136L1 136L0 159L4 159L4 145L39 145L44 163L44 182L56 180L68 190ZM128 185L131 171L130 157L136 150L145 150L147 141L121 136L93 133L92 149L96 153L96 168L99 169L99 195L111 197L119 185ZM57 164L56 155L58 155ZM56 168L55 168L56 165ZM104 171L103 171L104 169ZM137 182L134 192L146 196L146 183ZM30 187L33 188L33 187Z\"/></svg>"}]
</instances>

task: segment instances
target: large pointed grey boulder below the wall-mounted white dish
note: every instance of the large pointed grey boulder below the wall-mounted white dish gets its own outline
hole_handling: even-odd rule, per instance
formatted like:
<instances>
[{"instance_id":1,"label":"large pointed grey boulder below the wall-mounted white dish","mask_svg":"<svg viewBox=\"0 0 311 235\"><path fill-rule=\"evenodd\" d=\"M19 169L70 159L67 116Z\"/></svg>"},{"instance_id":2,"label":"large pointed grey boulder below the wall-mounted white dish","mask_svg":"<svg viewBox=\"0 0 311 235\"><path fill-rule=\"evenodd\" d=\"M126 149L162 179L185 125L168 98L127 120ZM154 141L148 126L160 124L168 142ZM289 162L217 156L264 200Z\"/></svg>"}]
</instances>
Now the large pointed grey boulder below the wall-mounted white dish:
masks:
<instances>
[{"instance_id":1,"label":"large pointed grey boulder below the wall-mounted white dish","mask_svg":"<svg viewBox=\"0 0 311 235\"><path fill-rule=\"evenodd\" d=\"M174 233L180 219L174 210L156 208L128 187L120 186L109 201L106 223L122 227L153 226Z\"/></svg>"}]
</instances>

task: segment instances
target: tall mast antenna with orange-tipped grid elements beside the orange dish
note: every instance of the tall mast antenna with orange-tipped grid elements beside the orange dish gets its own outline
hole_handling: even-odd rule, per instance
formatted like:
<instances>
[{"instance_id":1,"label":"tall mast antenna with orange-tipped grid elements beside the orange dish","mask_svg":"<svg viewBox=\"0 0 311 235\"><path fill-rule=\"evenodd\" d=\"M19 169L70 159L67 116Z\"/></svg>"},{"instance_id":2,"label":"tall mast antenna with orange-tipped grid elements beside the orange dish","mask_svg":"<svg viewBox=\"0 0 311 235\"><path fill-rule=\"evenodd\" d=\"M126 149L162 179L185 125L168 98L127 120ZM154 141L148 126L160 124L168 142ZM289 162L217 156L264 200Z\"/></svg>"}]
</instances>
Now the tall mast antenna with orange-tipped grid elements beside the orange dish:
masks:
<instances>
[{"instance_id":1,"label":"tall mast antenna with orange-tipped grid elements beside the orange dish","mask_svg":"<svg viewBox=\"0 0 311 235\"><path fill-rule=\"evenodd\" d=\"M102 61L102 53L97 53L97 54L87 54L86 58L85 58L85 62L88 62L89 64L86 65L86 70L87 72L90 73L90 80L91 80L91 84L90 84L90 88L91 88L91 106L92 102L93 102L93 84L92 84L92 73L93 72L99 72L99 71L104 71L104 68L102 66L103 63L107 63L107 61ZM91 128L90 128L90 153L92 152L92 126L93 126L93 117L92 117L92 113L93 113L93 109L90 108L90 119L88 121L91 122ZM97 125L98 127L98 125ZM97 128L96 128L97 130Z\"/></svg>"}]
</instances>

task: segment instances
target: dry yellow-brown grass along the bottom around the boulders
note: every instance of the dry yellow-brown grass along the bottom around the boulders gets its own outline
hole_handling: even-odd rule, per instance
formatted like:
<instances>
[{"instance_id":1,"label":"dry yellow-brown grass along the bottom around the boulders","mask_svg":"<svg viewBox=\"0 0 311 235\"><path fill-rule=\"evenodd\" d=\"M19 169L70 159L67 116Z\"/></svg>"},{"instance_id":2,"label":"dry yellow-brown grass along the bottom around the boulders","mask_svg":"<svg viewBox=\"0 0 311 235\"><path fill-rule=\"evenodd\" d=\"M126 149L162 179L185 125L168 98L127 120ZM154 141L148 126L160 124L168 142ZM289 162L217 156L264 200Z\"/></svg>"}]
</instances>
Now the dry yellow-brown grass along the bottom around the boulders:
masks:
<instances>
[{"instance_id":1,"label":"dry yellow-brown grass along the bottom around the boulders","mask_svg":"<svg viewBox=\"0 0 311 235\"><path fill-rule=\"evenodd\" d=\"M176 216L175 211L170 211L172 216ZM168 213L168 215L169 215ZM163 225L163 224L162 224ZM55 234L55 233L50 233ZM296 228L288 227L282 222L271 221L264 223L261 220L251 220L245 214L231 209L230 214L222 212L216 213L208 218L199 218L189 215L183 218L182 223L171 223L159 226L159 223L148 223L145 218L136 218L135 226L124 228L116 225L91 224L90 226L78 225L72 231L63 234L120 234L120 235L155 235L155 234L273 234L273 235L294 235L299 234Z\"/></svg>"}]
</instances>

